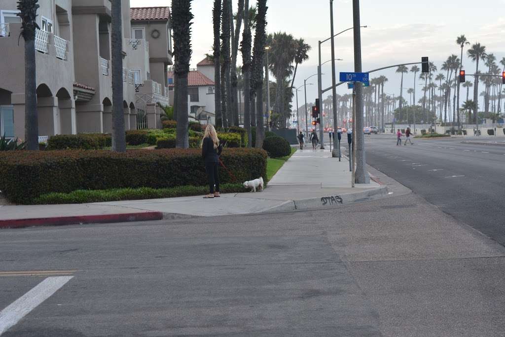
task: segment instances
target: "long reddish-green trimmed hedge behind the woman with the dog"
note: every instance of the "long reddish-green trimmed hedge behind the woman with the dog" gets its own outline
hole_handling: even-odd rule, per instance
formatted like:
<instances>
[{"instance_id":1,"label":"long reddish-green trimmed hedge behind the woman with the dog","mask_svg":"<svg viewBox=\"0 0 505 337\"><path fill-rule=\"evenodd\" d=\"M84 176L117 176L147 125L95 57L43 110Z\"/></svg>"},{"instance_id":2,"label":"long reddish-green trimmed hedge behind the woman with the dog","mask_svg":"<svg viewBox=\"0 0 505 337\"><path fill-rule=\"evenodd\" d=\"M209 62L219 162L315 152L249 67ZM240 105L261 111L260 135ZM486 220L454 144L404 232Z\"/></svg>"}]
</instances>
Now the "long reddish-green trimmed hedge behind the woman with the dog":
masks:
<instances>
[{"instance_id":1,"label":"long reddish-green trimmed hedge behind the woman with the dog","mask_svg":"<svg viewBox=\"0 0 505 337\"><path fill-rule=\"evenodd\" d=\"M222 183L266 177L267 154L256 149L225 149L227 170ZM201 152L194 150L12 151L0 153L0 190L14 203L31 204L51 192L79 189L167 188L205 186L207 175Z\"/></svg>"}]
</instances>

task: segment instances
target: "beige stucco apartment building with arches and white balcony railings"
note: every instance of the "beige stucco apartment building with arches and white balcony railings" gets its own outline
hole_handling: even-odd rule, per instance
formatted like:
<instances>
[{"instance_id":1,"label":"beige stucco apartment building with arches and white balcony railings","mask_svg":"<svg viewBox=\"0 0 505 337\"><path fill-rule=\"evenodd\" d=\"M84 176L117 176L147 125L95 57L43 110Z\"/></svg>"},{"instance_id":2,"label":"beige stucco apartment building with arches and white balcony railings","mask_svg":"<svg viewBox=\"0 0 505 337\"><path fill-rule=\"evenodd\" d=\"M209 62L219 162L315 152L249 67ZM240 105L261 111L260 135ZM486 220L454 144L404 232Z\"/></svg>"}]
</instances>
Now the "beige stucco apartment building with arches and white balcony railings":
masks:
<instances>
[{"instance_id":1,"label":"beige stucco apartment building with arches and white balcony railings","mask_svg":"<svg viewBox=\"0 0 505 337\"><path fill-rule=\"evenodd\" d=\"M36 32L40 136L112 131L110 0L39 2ZM0 1L0 132L24 138L24 45L16 0ZM169 105L172 64L168 7L132 8L122 0L126 129L159 127Z\"/></svg>"}]
</instances>

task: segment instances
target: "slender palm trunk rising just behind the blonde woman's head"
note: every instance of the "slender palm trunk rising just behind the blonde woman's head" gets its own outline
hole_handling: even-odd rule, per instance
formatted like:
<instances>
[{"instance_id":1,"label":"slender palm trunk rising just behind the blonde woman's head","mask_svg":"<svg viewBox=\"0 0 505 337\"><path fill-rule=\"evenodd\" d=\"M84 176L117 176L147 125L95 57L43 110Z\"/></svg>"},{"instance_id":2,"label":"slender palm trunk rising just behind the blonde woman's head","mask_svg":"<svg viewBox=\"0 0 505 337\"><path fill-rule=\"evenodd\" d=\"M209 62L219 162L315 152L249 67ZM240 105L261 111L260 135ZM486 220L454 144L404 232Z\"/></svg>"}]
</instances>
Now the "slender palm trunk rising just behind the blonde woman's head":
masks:
<instances>
[{"instance_id":1,"label":"slender palm trunk rising just behind the blonde woman's head","mask_svg":"<svg viewBox=\"0 0 505 337\"><path fill-rule=\"evenodd\" d=\"M216 126L223 127L223 115L221 113L221 0L214 0L212 10L214 22L214 106L216 109ZM175 102L174 102L175 103Z\"/></svg>"}]
</instances>

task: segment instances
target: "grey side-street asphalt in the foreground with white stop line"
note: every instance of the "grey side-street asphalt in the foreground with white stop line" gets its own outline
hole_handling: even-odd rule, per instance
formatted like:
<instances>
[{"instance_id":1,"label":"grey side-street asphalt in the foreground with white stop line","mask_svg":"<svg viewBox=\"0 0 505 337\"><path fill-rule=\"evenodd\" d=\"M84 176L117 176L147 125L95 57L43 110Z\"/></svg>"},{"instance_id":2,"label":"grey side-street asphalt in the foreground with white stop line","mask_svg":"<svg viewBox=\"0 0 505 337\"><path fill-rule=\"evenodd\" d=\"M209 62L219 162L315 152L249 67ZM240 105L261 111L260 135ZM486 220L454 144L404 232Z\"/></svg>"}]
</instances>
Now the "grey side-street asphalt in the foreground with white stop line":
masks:
<instances>
[{"instance_id":1,"label":"grey side-street asphalt in the foreground with white stop line","mask_svg":"<svg viewBox=\"0 0 505 337\"><path fill-rule=\"evenodd\" d=\"M333 210L1 230L0 334L501 335L505 248L381 179Z\"/></svg>"}]
</instances>

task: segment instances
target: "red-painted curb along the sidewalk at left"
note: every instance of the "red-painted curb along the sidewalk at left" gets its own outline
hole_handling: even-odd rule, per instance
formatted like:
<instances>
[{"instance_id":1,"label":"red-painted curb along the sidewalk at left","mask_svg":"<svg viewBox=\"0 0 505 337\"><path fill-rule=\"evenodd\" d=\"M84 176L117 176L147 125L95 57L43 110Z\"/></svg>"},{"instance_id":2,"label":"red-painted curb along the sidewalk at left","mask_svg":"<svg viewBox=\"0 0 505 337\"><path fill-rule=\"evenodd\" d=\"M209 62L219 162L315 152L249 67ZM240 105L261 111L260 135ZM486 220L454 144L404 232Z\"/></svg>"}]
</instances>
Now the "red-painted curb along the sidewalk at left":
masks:
<instances>
[{"instance_id":1,"label":"red-painted curb along the sidewalk at left","mask_svg":"<svg viewBox=\"0 0 505 337\"><path fill-rule=\"evenodd\" d=\"M1 228L24 228L35 226L64 226L76 224L117 223L133 221L162 220L162 212L142 212L125 214L83 215L53 218L0 220Z\"/></svg>"}]
</instances>

